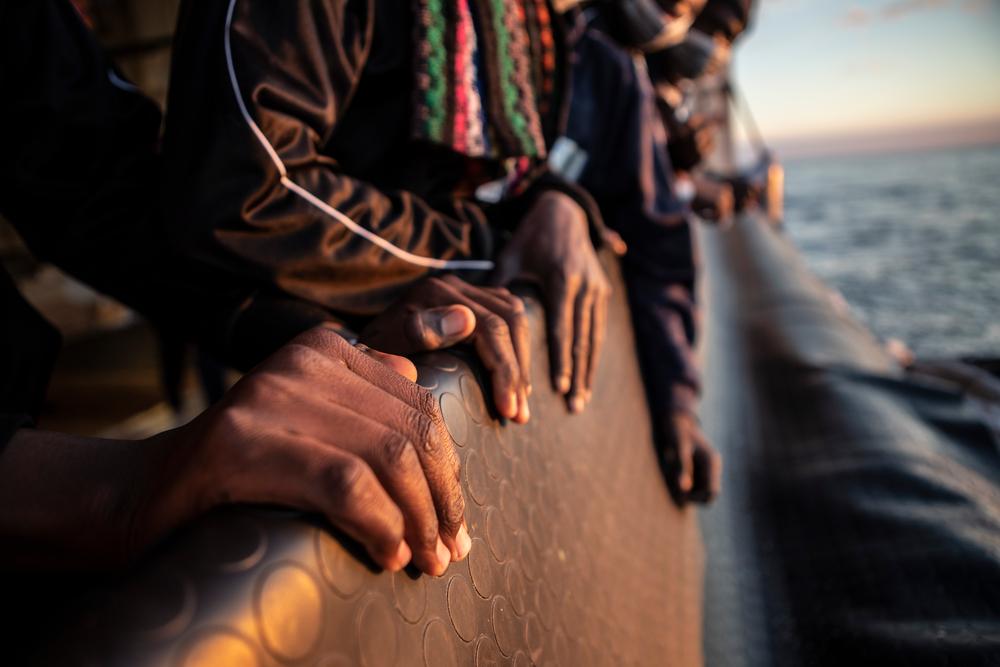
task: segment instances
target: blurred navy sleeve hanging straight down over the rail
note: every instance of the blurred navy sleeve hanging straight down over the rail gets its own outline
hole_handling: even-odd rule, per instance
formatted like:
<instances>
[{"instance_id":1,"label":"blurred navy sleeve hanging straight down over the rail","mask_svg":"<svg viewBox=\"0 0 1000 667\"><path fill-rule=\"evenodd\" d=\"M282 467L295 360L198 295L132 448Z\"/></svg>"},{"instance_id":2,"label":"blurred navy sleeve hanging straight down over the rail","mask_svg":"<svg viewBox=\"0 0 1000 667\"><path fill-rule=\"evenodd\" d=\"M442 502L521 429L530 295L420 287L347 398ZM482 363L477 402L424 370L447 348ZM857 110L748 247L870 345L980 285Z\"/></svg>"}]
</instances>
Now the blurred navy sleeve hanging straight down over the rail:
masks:
<instances>
[{"instance_id":1,"label":"blurred navy sleeve hanging straight down over the rail","mask_svg":"<svg viewBox=\"0 0 1000 667\"><path fill-rule=\"evenodd\" d=\"M628 245L623 270L653 409L692 409L694 246L651 86L627 54L588 30L577 46L573 95L567 134L587 154L580 183Z\"/></svg>"}]
</instances>

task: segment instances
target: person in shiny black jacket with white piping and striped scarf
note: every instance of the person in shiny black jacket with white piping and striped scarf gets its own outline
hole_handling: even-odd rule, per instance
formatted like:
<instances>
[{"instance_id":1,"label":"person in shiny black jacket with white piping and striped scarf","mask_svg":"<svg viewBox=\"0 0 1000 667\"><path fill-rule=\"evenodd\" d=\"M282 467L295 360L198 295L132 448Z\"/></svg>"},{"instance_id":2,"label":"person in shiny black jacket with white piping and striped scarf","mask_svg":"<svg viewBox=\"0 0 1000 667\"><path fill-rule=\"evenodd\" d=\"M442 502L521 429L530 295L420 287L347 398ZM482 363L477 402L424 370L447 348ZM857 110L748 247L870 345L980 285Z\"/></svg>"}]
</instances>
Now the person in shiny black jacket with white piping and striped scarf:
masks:
<instances>
[{"instance_id":1,"label":"person in shiny black jacket with white piping and striped scarf","mask_svg":"<svg viewBox=\"0 0 1000 667\"><path fill-rule=\"evenodd\" d=\"M568 63L545 0L190 0L174 49L163 202L185 255L392 352L420 349L384 335L414 304L466 306L518 422L520 302L469 282L533 281L553 387L584 408L610 287L596 206L546 165Z\"/></svg>"}]
</instances>

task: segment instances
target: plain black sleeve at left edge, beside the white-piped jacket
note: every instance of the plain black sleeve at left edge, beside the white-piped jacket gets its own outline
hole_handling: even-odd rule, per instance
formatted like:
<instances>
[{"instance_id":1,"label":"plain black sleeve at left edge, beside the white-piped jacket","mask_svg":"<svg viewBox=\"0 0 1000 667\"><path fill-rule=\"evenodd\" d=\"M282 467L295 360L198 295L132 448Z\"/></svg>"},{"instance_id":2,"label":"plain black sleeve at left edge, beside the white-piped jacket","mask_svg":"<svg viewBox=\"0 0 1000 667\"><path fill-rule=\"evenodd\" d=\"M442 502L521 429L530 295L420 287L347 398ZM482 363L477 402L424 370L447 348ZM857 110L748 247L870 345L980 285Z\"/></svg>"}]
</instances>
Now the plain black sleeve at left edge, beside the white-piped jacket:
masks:
<instances>
[{"instance_id":1,"label":"plain black sleeve at left edge, beside the white-piped jacket","mask_svg":"<svg viewBox=\"0 0 1000 667\"><path fill-rule=\"evenodd\" d=\"M39 259L224 350L253 289L170 252L158 109L114 72L68 0L8 0L0 12L0 213Z\"/></svg>"}]
</instances>

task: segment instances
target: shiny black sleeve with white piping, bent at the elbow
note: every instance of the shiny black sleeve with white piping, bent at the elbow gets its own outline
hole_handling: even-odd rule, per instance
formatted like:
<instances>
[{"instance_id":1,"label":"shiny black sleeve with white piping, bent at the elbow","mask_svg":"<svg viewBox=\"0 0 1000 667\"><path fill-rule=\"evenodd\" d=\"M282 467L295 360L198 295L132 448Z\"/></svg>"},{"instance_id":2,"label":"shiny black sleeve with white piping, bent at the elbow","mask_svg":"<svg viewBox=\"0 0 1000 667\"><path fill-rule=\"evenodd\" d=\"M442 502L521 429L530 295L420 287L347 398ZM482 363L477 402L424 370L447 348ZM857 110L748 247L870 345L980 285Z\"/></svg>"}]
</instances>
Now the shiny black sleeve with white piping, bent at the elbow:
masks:
<instances>
[{"instance_id":1,"label":"shiny black sleeve with white piping, bent at the elbow","mask_svg":"<svg viewBox=\"0 0 1000 667\"><path fill-rule=\"evenodd\" d=\"M374 0L184 6L165 146L176 243L362 315L434 268L455 268L440 261L487 255L478 207L442 213L348 175L324 150L365 70L374 12Z\"/></svg>"}]
</instances>

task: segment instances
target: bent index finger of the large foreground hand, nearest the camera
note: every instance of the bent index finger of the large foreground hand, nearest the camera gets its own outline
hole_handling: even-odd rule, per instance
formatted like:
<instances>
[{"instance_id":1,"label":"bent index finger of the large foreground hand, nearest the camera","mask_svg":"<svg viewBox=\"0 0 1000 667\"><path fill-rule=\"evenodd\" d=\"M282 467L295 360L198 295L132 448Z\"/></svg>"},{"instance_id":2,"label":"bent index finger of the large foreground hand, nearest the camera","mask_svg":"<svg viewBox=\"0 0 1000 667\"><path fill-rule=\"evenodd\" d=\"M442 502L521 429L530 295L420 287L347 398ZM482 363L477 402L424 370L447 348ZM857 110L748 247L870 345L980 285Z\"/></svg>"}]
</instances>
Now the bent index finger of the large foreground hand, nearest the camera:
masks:
<instances>
[{"instance_id":1,"label":"bent index finger of the large foreground hand, nearest the camera","mask_svg":"<svg viewBox=\"0 0 1000 667\"><path fill-rule=\"evenodd\" d=\"M321 512L381 567L395 572L410 562L403 514L360 458L287 432L261 433L244 444L245 459L228 462L232 501Z\"/></svg>"}]
</instances>

